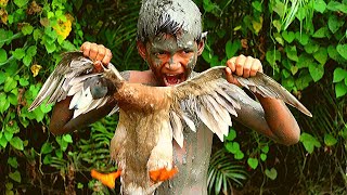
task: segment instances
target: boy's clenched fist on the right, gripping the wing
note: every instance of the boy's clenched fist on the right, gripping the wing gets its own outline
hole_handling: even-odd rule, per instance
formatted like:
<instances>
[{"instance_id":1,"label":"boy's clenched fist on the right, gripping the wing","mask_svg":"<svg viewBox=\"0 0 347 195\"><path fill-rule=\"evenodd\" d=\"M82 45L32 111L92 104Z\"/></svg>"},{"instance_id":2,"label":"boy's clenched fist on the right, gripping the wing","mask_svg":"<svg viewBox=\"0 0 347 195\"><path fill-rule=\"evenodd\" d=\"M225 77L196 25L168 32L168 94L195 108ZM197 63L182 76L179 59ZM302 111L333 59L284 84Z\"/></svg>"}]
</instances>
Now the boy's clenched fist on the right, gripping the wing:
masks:
<instances>
[{"instance_id":1,"label":"boy's clenched fist on the right, gripping the wing","mask_svg":"<svg viewBox=\"0 0 347 195\"><path fill-rule=\"evenodd\" d=\"M230 83L241 86L232 76L233 74L240 77L248 78L255 76L257 72L262 73L262 65L258 58L239 55L227 61L226 73L227 80Z\"/></svg>"}]
</instances>

